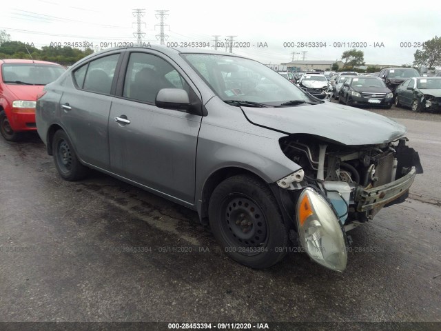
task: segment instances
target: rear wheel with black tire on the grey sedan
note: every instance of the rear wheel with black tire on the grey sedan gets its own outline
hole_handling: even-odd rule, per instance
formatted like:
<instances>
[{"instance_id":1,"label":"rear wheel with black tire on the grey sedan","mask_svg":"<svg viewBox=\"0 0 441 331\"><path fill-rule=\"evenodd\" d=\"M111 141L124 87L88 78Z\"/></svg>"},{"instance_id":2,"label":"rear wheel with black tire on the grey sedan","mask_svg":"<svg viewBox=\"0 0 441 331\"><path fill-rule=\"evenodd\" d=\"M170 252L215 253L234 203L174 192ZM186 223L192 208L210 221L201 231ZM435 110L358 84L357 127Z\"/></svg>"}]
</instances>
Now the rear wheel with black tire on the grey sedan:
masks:
<instances>
[{"instance_id":1,"label":"rear wheel with black tire on the grey sedan","mask_svg":"<svg viewBox=\"0 0 441 331\"><path fill-rule=\"evenodd\" d=\"M76 157L72 143L63 130L58 130L52 139L52 152L55 166L60 176L66 181L78 181L88 174L88 168Z\"/></svg>"}]
</instances>

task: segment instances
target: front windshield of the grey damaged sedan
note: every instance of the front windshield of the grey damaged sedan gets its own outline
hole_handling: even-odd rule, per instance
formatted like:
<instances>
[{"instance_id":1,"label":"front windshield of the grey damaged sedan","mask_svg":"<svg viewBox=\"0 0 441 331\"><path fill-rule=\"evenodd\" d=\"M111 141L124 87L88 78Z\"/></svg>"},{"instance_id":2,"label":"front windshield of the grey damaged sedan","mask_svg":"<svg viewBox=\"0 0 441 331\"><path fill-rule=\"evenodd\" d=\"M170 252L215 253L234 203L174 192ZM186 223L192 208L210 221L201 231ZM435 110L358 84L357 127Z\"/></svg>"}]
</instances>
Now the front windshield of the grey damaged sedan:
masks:
<instances>
[{"instance_id":1,"label":"front windshield of the grey damaged sedan","mask_svg":"<svg viewBox=\"0 0 441 331\"><path fill-rule=\"evenodd\" d=\"M262 63L223 54L181 54L223 101L279 106L288 101L316 102Z\"/></svg>"}]
</instances>

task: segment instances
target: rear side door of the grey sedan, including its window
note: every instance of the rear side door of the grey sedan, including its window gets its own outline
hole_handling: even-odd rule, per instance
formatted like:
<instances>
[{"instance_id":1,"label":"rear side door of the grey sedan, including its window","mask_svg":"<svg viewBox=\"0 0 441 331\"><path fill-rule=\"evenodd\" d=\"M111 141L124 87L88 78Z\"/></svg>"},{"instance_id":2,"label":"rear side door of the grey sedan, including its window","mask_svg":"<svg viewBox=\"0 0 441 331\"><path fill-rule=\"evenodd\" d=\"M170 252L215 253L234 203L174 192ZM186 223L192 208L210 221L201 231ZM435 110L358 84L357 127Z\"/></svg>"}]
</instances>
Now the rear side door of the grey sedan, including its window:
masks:
<instances>
[{"instance_id":1,"label":"rear side door of the grey sedan, including its window","mask_svg":"<svg viewBox=\"0 0 441 331\"><path fill-rule=\"evenodd\" d=\"M96 167L110 168L107 123L114 72L121 54L105 54L74 70L73 85L61 97L61 123L79 157Z\"/></svg>"}]
</instances>

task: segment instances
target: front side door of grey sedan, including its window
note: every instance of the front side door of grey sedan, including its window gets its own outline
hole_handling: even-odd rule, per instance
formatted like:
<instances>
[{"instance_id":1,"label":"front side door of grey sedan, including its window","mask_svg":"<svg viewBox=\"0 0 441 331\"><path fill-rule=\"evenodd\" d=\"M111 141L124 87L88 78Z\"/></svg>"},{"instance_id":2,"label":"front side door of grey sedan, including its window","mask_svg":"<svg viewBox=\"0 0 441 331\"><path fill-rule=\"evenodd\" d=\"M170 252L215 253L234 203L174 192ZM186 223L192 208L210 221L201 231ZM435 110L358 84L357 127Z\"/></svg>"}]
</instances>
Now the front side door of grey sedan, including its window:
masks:
<instances>
[{"instance_id":1,"label":"front side door of grey sedan, including its window","mask_svg":"<svg viewBox=\"0 0 441 331\"><path fill-rule=\"evenodd\" d=\"M193 204L201 116L154 102L161 88L183 88L190 100L201 97L185 73L154 50L131 52L123 76L121 96L110 109L112 172Z\"/></svg>"}]
</instances>

